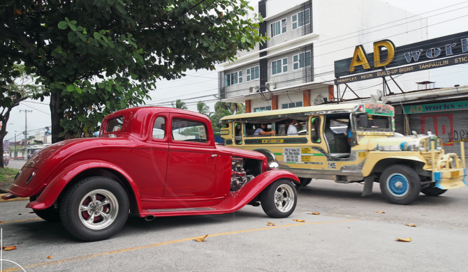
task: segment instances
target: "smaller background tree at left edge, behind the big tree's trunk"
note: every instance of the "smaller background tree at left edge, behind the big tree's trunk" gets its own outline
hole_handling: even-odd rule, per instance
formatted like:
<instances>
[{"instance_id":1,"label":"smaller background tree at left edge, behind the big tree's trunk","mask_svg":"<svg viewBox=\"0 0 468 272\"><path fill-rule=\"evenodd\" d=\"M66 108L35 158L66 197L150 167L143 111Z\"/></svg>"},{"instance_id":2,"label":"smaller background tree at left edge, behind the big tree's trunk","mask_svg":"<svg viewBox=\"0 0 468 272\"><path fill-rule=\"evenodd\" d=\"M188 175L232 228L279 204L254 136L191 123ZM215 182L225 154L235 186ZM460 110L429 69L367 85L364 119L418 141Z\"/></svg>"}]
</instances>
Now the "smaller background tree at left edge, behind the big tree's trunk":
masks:
<instances>
[{"instance_id":1,"label":"smaller background tree at left edge, behind the big tree's trunk","mask_svg":"<svg viewBox=\"0 0 468 272\"><path fill-rule=\"evenodd\" d=\"M20 105L20 102L34 96L41 96L44 89L42 86L34 84L34 76L27 75L24 66L17 65L13 61L6 61L0 68L0 142L7 134L6 126L10 119L10 112L13 107ZM0 153L3 154L3 144L0 146ZM3 167L1 160L0 168Z\"/></svg>"}]
</instances>

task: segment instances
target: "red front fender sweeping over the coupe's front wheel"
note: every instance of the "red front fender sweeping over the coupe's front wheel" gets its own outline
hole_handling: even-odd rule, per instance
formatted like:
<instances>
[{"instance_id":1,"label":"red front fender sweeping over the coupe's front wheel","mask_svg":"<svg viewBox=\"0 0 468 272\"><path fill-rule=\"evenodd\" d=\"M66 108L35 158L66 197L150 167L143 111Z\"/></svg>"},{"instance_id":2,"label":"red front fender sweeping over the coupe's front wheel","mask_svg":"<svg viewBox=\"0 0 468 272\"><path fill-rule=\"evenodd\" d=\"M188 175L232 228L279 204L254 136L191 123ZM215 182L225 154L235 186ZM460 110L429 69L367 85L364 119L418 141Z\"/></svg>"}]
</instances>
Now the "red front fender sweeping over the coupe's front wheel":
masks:
<instances>
[{"instance_id":1,"label":"red front fender sweeping over the coupe's front wheel","mask_svg":"<svg viewBox=\"0 0 468 272\"><path fill-rule=\"evenodd\" d=\"M231 196L217 206L223 209L225 213L232 213L242 209L243 206L254 200L267 186L278 179L288 179L293 183L300 183L298 177L291 172L285 170L270 170L259 174L237 192L231 192Z\"/></svg>"}]
</instances>

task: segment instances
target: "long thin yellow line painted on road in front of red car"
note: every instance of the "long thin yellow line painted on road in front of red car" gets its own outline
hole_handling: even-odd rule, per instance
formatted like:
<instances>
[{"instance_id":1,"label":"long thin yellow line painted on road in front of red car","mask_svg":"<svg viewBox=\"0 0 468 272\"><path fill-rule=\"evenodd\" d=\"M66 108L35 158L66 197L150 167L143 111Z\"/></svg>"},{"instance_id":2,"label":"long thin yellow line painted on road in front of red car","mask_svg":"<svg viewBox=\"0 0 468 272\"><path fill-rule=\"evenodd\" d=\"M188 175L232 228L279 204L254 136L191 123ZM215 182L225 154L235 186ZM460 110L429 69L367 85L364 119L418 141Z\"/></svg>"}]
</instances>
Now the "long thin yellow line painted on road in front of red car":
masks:
<instances>
[{"instance_id":1,"label":"long thin yellow line painted on road in front of red car","mask_svg":"<svg viewBox=\"0 0 468 272\"><path fill-rule=\"evenodd\" d=\"M342 221L328 221L328 222L310 222L310 223L298 223L298 224L291 224L291 225L282 225L282 226L275 226L275 227L261 227L259 229L244 229L244 230L239 230L236 232L223 232L219 234L208 234L208 237L214 237L214 236L222 236L222 235L229 235L229 234L238 234L238 233L243 233L243 232L256 232L259 230L266 230L266 229L278 229L280 227L295 227L295 226L301 226L301 225L318 225L318 224L328 224L328 223L338 223L338 222L351 222L351 221L356 221L356 220L342 220ZM95 257L101 257L105 255L111 255L111 254L117 254L117 253L122 253L122 252L129 252L129 251L134 251L134 250L141 250L145 248L155 248L156 246L161 246L161 245L170 245L172 243L182 243L185 241L191 241L193 239L199 239L202 238L203 236L196 236L196 237L191 237L191 238L185 238L185 239L179 239L179 240L173 240L173 241L166 241L166 242L161 242L161 243L152 243L150 245L140 245L136 246L133 248L123 248L120 250L112 250L112 251L106 251L106 252L101 252L101 253L94 253L91 255L83 255L83 256L78 256L78 257L72 257L68 259L59 259L57 261L52 261L52 262L40 262L37 264L28 264L27 266L23 266L24 269L36 269L38 267L42 266L51 266L54 264L64 264L66 262L75 262L75 261L80 261L82 259L91 259ZM19 267L13 267L10 269L3 269L3 272L13 272L13 271L20 271L21 269Z\"/></svg>"}]
</instances>

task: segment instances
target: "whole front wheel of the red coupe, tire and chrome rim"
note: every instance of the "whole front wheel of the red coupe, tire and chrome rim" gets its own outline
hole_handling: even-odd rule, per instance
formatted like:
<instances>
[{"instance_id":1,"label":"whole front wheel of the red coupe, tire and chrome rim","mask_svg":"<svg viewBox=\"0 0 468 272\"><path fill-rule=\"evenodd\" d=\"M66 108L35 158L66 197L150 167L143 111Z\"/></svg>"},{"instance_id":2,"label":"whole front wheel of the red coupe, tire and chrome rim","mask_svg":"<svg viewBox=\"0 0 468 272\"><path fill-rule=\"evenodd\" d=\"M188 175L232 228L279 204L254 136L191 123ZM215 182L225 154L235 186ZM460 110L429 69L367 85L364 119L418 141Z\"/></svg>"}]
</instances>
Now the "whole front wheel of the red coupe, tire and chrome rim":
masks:
<instances>
[{"instance_id":1,"label":"whole front wheel of the red coupe, tire and chrome rim","mask_svg":"<svg viewBox=\"0 0 468 272\"><path fill-rule=\"evenodd\" d=\"M260 202L267 216L286 218L294 212L298 192L288 179L278 179L260 193Z\"/></svg>"}]
</instances>

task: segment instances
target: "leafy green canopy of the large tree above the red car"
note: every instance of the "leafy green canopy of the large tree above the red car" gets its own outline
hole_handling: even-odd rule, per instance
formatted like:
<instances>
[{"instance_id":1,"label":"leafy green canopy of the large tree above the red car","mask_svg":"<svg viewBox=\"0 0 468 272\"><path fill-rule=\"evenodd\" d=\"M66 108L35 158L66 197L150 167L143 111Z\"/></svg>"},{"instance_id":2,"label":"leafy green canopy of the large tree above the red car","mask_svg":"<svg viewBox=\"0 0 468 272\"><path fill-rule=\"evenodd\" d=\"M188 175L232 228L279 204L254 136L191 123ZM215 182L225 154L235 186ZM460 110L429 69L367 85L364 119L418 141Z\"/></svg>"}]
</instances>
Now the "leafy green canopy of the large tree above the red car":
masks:
<instances>
[{"instance_id":1,"label":"leafy green canopy of the large tree above the red car","mask_svg":"<svg viewBox=\"0 0 468 272\"><path fill-rule=\"evenodd\" d=\"M4 0L0 61L49 90L52 142L98 130L140 105L156 80L213 70L266 40L246 0ZM68 136L67 136L68 135Z\"/></svg>"}]
</instances>

